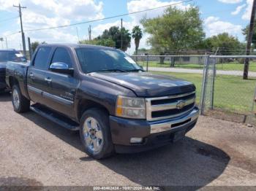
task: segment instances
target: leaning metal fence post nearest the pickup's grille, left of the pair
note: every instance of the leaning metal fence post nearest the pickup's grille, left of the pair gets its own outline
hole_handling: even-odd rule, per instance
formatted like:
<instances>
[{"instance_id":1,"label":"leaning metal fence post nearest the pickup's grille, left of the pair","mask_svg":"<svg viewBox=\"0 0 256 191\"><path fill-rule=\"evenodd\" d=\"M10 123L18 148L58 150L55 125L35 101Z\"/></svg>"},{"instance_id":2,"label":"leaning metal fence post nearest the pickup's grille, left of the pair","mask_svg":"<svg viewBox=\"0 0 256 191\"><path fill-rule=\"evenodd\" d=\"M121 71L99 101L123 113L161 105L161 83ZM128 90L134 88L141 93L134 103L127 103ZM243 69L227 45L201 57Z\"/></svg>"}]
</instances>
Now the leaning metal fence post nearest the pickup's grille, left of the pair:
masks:
<instances>
[{"instance_id":1,"label":"leaning metal fence post nearest the pickup's grille, left of the pair","mask_svg":"<svg viewBox=\"0 0 256 191\"><path fill-rule=\"evenodd\" d=\"M203 67L203 82L202 82L202 90L201 90L201 97L200 97L200 114L203 114L205 109L205 102L206 102L206 85L207 85L207 76L208 76L208 66L209 66L209 59L210 56L206 55L205 63Z\"/></svg>"}]
</instances>

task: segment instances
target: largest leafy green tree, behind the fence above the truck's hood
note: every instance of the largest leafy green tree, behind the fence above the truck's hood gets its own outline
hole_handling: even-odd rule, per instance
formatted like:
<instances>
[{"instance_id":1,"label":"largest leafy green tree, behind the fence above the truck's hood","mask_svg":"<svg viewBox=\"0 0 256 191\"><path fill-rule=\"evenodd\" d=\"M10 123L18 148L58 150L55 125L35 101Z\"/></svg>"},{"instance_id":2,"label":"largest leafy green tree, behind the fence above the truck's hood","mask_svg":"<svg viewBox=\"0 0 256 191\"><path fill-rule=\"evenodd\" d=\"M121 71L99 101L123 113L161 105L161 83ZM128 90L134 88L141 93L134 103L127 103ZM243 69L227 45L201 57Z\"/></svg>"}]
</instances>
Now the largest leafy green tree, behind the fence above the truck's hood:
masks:
<instances>
[{"instance_id":1,"label":"largest leafy green tree, behind the fence above the truck's hood","mask_svg":"<svg viewBox=\"0 0 256 191\"><path fill-rule=\"evenodd\" d=\"M144 31L151 34L148 43L159 55L175 54L179 50L198 48L203 42L203 20L198 7L186 10L169 7L161 17L141 20ZM163 63L161 57L160 63ZM175 60L172 59L171 66Z\"/></svg>"}]
</instances>

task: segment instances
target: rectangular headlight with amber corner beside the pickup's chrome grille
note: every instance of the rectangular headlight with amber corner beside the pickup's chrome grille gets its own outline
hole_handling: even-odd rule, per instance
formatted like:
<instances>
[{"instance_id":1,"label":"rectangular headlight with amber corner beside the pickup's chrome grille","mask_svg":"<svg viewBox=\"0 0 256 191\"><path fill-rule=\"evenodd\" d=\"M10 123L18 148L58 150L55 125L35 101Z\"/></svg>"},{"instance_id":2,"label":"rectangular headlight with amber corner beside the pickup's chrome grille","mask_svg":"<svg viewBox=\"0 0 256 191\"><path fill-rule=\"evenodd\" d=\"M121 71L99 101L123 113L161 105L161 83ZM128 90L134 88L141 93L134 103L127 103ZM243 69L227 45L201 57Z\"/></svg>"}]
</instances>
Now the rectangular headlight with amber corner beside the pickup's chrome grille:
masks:
<instances>
[{"instance_id":1,"label":"rectangular headlight with amber corner beside the pickup's chrome grille","mask_svg":"<svg viewBox=\"0 0 256 191\"><path fill-rule=\"evenodd\" d=\"M134 119L146 119L145 99L128 98L118 95L116 101L116 116Z\"/></svg>"}]
</instances>

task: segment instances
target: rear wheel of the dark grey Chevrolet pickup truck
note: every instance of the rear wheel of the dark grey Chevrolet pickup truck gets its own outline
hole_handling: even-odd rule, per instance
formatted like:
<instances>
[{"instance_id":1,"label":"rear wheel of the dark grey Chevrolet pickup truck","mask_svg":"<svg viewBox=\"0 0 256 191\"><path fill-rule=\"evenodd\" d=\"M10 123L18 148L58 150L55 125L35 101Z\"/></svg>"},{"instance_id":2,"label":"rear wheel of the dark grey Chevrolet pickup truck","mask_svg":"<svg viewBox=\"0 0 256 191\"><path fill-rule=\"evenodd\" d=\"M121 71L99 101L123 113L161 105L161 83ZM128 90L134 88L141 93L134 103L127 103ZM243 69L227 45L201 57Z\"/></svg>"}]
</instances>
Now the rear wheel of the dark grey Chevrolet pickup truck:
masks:
<instances>
[{"instance_id":1,"label":"rear wheel of the dark grey Chevrolet pickup truck","mask_svg":"<svg viewBox=\"0 0 256 191\"><path fill-rule=\"evenodd\" d=\"M18 85L12 86L12 106L15 112L29 112L30 101L21 94Z\"/></svg>"}]
</instances>

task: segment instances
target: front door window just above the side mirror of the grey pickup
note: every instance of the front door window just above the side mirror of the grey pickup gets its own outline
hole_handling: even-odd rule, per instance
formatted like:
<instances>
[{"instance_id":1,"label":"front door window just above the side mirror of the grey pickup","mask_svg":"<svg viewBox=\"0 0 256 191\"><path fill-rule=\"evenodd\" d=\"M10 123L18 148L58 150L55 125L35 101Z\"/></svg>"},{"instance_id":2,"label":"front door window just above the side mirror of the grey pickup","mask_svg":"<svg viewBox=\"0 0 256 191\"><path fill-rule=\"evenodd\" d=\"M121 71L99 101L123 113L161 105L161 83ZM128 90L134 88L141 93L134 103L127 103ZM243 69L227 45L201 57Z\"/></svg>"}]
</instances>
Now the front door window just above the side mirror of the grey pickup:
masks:
<instances>
[{"instance_id":1,"label":"front door window just above the side mirror of the grey pickup","mask_svg":"<svg viewBox=\"0 0 256 191\"><path fill-rule=\"evenodd\" d=\"M67 52L66 49L64 48L56 48L54 55L53 55L53 60L51 61L51 63L67 63L67 65L69 66L69 68L72 67L72 63L71 63L71 58L69 56L69 52Z\"/></svg>"}]
</instances>

